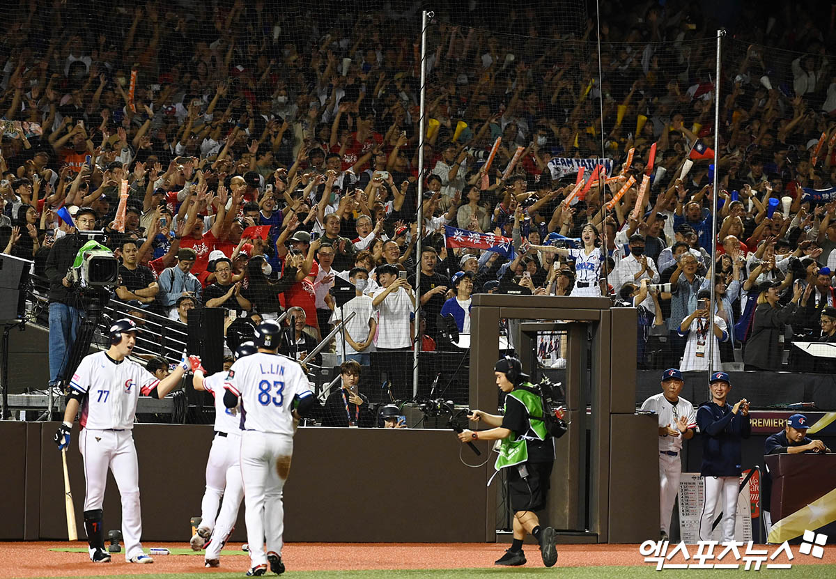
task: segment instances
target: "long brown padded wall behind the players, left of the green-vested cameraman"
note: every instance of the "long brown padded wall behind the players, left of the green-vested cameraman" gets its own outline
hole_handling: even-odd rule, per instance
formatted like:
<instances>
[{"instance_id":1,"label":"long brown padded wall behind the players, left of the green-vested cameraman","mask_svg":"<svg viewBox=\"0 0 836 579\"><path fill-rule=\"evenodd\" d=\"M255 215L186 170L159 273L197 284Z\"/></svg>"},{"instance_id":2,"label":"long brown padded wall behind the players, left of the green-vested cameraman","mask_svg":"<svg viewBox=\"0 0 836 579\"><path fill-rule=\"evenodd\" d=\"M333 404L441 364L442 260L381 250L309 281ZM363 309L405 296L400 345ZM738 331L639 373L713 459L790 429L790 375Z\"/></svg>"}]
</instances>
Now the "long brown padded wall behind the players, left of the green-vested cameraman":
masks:
<instances>
[{"instance_id":1,"label":"long brown padded wall behind the players, left of the green-vested cameraman","mask_svg":"<svg viewBox=\"0 0 836 579\"><path fill-rule=\"evenodd\" d=\"M57 426L45 423L41 438L40 537L65 540L64 479L52 442ZM134 439L143 541L187 541L189 519L200 515L212 427L140 424L134 428ZM487 443L480 445L484 459ZM300 428L284 489L286 540L485 541L489 465L468 469L459 460L459 447L455 434L446 430ZM470 464L483 461L468 448L462 457ZM84 471L78 425L67 458L83 539ZM105 530L120 528L120 511L119 493L109 474ZM242 509L232 541L246 541L244 529Z\"/></svg>"}]
</instances>

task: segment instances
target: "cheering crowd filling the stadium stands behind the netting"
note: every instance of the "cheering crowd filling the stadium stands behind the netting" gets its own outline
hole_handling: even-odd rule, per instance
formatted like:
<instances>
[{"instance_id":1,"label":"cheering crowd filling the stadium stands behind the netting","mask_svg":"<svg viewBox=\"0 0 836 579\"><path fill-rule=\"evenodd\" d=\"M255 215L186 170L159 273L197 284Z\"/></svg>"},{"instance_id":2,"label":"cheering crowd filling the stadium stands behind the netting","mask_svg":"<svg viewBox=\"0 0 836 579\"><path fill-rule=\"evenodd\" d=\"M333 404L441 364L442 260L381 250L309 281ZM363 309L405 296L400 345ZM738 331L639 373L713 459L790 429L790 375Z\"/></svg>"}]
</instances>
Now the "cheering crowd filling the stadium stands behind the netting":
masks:
<instances>
[{"instance_id":1,"label":"cheering crowd filling the stadium stands behind the netting","mask_svg":"<svg viewBox=\"0 0 836 579\"><path fill-rule=\"evenodd\" d=\"M780 25L757 13L729 24L797 52L753 44L726 62L715 192L716 22L699 3L602 3L603 83L592 20L576 42L534 8L470 20L494 32L434 24L423 176L420 13L300 16L291 32L273 26L275 4L116 2L80 27L92 20L64 4L23 2L5 23L0 248L48 278L53 379L78 330L67 269L83 243L61 208L75 227L108 234L121 260L114 300L180 322L195 308L230 310L232 349L257 320L293 307L283 351L304 355L350 311L337 351L368 364L371 351L414 343L418 301L432 349L439 315L470 330L474 294L594 289L577 285L587 278L572 255L543 249L582 245L588 223L604 292L640 308L640 366L716 369L745 344L748 368L774 370L785 337L836 341L836 194L805 192L836 187L828 18L786 3ZM602 102L617 178L566 204L576 171L552 161L601 156ZM451 249L446 225L508 238L516 253ZM337 278L356 286L342 310L329 291Z\"/></svg>"}]
</instances>

